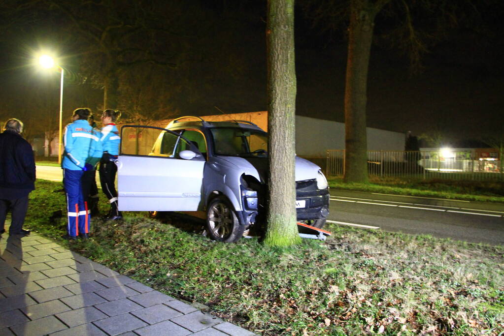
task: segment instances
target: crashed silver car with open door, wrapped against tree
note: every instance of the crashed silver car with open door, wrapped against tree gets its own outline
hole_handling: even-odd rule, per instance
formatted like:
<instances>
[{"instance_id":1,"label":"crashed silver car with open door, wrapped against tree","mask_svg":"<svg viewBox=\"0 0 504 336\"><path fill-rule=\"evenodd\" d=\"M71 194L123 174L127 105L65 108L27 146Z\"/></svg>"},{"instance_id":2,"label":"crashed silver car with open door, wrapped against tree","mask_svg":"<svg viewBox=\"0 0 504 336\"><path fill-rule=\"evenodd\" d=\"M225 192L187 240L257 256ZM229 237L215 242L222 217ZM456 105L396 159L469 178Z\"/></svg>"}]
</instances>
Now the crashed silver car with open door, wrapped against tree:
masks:
<instances>
[{"instance_id":1,"label":"crashed silver car with open door, wrapped against tree","mask_svg":"<svg viewBox=\"0 0 504 336\"><path fill-rule=\"evenodd\" d=\"M180 117L166 128L125 125L117 158L121 211L205 211L206 231L234 242L264 224L268 133L240 120ZM297 220L322 228L329 189L320 167L295 158Z\"/></svg>"}]
</instances>

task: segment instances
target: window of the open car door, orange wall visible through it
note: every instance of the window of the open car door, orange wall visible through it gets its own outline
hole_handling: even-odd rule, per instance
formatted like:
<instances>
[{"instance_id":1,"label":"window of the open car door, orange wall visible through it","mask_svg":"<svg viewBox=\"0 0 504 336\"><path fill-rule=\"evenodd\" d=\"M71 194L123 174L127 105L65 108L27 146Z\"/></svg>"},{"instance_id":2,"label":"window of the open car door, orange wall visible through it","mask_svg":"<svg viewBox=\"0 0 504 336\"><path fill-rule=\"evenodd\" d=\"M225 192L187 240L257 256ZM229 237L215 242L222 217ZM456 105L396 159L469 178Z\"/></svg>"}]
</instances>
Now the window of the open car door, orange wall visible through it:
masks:
<instances>
[{"instance_id":1,"label":"window of the open car door, orange wall visible through it","mask_svg":"<svg viewBox=\"0 0 504 336\"><path fill-rule=\"evenodd\" d=\"M155 142L162 135L159 152ZM151 126L123 126L121 128L120 154L170 156L178 153L176 148L189 148L189 144L179 134ZM178 156L177 156L178 157Z\"/></svg>"}]
</instances>

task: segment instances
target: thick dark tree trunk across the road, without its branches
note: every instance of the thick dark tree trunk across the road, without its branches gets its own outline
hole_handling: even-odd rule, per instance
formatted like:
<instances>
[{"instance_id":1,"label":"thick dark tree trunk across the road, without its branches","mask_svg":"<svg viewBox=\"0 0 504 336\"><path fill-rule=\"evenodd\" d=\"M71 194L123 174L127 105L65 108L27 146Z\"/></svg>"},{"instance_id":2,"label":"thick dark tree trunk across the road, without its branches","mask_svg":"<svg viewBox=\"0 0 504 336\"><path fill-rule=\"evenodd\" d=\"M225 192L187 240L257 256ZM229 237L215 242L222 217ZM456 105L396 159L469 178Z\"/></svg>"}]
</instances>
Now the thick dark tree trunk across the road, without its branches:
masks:
<instances>
[{"instance_id":1,"label":"thick dark tree trunk across the road, without its branches","mask_svg":"<svg viewBox=\"0 0 504 336\"><path fill-rule=\"evenodd\" d=\"M345 82L345 182L368 182L366 102L367 70L374 9L368 0L351 0Z\"/></svg>"}]
</instances>

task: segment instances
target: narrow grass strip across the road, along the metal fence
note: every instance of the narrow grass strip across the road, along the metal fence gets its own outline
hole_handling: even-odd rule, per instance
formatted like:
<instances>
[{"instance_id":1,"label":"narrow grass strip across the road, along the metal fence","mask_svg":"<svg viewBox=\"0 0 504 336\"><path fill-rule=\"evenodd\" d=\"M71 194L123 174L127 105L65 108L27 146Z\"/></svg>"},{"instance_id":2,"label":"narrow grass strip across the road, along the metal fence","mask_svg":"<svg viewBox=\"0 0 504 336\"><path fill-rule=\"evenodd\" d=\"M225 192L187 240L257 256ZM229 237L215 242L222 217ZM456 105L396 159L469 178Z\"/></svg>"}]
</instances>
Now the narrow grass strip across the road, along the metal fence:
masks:
<instances>
[{"instance_id":1,"label":"narrow grass strip across the road, along the metal fence","mask_svg":"<svg viewBox=\"0 0 504 336\"><path fill-rule=\"evenodd\" d=\"M453 200L504 203L504 183L478 181L406 181L372 178L370 183L343 183L341 178L329 177L334 189L372 193L446 198Z\"/></svg>"}]
</instances>

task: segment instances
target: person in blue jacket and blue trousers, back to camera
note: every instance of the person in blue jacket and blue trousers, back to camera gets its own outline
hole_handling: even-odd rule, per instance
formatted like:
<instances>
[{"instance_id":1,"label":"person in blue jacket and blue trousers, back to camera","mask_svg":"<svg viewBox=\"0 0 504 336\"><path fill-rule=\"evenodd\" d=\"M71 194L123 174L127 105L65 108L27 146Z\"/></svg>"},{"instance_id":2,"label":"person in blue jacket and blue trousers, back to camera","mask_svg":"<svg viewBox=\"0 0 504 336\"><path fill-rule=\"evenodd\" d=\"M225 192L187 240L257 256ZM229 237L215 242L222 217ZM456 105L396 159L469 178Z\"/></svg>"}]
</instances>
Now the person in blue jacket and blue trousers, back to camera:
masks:
<instances>
[{"instance_id":1,"label":"person in blue jacket and blue trousers, back to camera","mask_svg":"<svg viewBox=\"0 0 504 336\"><path fill-rule=\"evenodd\" d=\"M88 108L79 108L72 116L73 123L65 127L63 143L65 152L61 162L63 184L67 193L68 225L67 239L88 238L91 216L87 206L90 181L89 174L101 156L99 134L93 130L88 119Z\"/></svg>"}]
</instances>

